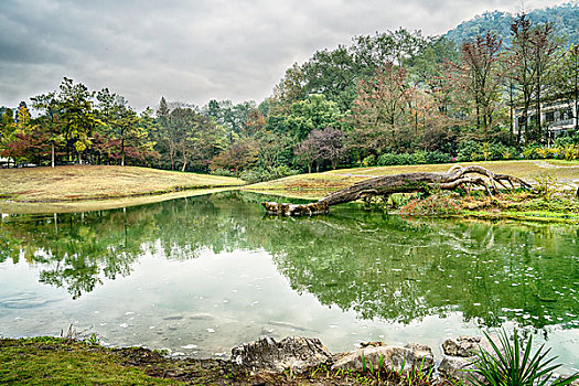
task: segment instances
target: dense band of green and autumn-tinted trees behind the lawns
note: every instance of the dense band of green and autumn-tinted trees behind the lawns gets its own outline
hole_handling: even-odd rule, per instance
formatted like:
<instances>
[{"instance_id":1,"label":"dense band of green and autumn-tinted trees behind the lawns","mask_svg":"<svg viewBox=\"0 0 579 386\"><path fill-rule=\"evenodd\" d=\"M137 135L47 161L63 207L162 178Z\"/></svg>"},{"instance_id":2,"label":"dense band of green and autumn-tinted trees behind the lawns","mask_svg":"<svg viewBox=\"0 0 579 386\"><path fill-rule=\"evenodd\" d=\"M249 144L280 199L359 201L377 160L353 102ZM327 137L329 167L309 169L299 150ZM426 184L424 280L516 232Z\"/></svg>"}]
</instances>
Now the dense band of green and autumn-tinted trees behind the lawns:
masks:
<instances>
[{"instance_id":1,"label":"dense band of green and autumn-tinted trees behind the lawns","mask_svg":"<svg viewBox=\"0 0 579 386\"><path fill-rule=\"evenodd\" d=\"M58 89L31 97L32 106L0 110L0 157L12 164L147 165L247 181L340 165L575 159L577 124L555 138L536 117L564 100L557 117L575 118L579 49L555 25L578 10L485 14L448 36L404 29L354 36L290 66L259 104L192 106L161 97L139 114L108 88L89 90L65 77Z\"/></svg>"}]
</instances>

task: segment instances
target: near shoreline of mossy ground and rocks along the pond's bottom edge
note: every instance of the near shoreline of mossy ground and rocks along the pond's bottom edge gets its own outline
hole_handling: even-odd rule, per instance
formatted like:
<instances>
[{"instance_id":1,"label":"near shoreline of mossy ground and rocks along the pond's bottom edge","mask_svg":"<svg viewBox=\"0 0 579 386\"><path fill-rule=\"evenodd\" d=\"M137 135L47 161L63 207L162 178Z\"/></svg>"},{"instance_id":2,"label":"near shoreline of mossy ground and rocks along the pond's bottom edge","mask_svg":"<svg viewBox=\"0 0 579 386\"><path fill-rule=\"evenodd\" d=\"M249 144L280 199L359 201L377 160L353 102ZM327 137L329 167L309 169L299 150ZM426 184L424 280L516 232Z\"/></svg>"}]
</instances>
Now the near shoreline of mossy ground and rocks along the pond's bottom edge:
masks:
<instances>
[{"instance_id":1,"label":"near shoreline of mossy ground and rocks along the pond's bottom edge","mask_svg":"<svg viewBox=\"0 0 579 386\"><path fill-rule=\"evenodd\" d=\"M42 383L57 376L63 383L108 383L110 377L121 383L116 377L127 373L131 384L400 385L420 380L425 386L470 385L476 353L492 353L493 343L502 347L494 333L447 339L440 347L442 360L435 361L432 349L419 343L367 342L349 352L330 353L318 339L288 336L276 342L262 336L233 347L228 358L194 358L142 346L103 346L94 336L0 337L0 382ZM570 376L569 371L561 373L556 369L550 380Z\"/></svg>"}]
</instances>

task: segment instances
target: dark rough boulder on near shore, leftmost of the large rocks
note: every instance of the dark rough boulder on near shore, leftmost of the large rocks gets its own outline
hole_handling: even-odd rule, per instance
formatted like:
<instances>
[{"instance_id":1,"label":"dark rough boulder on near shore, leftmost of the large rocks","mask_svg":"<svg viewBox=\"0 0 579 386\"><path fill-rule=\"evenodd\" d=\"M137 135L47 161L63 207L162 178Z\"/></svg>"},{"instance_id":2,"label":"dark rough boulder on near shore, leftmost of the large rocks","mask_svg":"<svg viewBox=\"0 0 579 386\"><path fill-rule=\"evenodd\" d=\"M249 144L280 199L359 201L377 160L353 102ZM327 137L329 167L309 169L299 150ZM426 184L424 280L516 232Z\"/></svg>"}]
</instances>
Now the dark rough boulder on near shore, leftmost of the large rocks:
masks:
<instances>
[{"instance_id":1,"label":"dark rough boulder on near shore, leftmost of the large rocks","mask_svg":"<svg viewBox=\"0 0 579 386\"><path fill-rule=\"evenodd\" d=\"M232 364L235 371L266 371L279 373L291 369L303 373L308 368L328 363L332 358L318 339L288 336L276 342L264 336L258 341L232 349Z\"/></svg>"}]
</instances>

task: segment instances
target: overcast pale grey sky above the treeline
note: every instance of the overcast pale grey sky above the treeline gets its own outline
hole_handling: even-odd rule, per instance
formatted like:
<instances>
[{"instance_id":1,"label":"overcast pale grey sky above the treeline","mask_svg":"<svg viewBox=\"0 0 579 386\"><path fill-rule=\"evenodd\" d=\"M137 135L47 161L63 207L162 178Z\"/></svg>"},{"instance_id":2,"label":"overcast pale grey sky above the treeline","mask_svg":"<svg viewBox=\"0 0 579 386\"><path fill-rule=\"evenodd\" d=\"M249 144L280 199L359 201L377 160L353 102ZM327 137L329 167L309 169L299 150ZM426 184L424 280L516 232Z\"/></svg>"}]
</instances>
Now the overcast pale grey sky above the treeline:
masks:
<instances>
[{"instance_id":1,"label":"overcast pale grey sky above the treeline","mask_svg":"<svg viewBox=\"0 0 579 386\"><path fill-rule=\"evenodd\" d=\"M262 100L293 62L376 31L442 34L484 11L547 0L2 0L0 106L63 76L141 110L161 96L205 105Z\"/></svg>"}]
</instances>

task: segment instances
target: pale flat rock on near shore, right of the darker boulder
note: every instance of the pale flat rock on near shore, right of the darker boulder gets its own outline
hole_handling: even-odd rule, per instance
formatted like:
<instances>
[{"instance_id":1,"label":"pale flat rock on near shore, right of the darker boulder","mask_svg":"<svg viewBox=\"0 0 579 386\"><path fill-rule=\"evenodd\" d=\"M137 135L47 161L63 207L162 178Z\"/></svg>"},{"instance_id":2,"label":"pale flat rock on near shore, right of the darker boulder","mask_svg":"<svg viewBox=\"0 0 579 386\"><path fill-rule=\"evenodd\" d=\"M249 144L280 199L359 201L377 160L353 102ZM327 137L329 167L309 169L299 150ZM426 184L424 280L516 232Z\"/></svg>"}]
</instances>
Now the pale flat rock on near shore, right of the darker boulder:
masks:
<instances>
[{"instance_id":1,"label":"pale flat rock on near shore, right of the darker boulder","mask_svg":"<svg viewBox=\"0 0 579 386\"><path fill-rule=\"evenodd\" d=\"M429 369L435 366L432 350L429 346L410 343L404 347L374 345L344 353L335 358L332 369L362 372L369 368L369 363L374 369L377 369L380 362L383 366L395 372L403 371L403 366L405 372L420 367Z\"/></svg>"}]
</instances>

